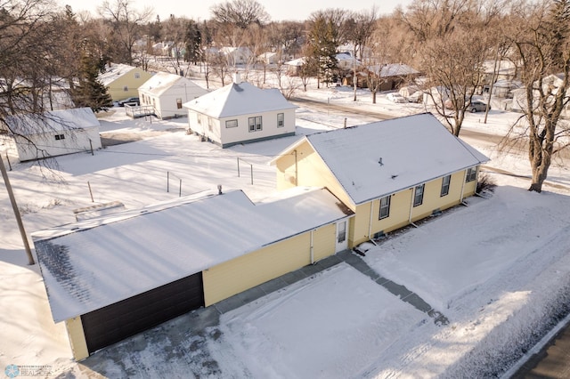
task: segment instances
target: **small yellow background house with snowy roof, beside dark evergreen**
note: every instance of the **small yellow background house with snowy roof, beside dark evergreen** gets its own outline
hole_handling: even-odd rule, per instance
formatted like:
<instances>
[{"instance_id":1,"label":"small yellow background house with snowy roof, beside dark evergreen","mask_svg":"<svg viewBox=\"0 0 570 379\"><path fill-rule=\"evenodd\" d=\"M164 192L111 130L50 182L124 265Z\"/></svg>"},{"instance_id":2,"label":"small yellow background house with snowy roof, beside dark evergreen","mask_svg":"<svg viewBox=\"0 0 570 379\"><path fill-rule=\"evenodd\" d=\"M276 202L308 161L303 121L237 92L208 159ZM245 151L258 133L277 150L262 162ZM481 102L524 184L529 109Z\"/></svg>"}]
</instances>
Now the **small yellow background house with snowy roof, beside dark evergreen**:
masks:
<instances>
[{"instance_id":1,"label":"small yellow background house with snowy roof, beside dark evergreen","mask_svg":"<svg viewBox=\"0 0 570 379\"><path fill-rule=\"evenodd\" d=\"M126 64L111 64L106 71L99 74L102 85L113 101L121 101L138 96L138 88L149 80L152 74L143 69Z\"/></svg>"}]
</instances>

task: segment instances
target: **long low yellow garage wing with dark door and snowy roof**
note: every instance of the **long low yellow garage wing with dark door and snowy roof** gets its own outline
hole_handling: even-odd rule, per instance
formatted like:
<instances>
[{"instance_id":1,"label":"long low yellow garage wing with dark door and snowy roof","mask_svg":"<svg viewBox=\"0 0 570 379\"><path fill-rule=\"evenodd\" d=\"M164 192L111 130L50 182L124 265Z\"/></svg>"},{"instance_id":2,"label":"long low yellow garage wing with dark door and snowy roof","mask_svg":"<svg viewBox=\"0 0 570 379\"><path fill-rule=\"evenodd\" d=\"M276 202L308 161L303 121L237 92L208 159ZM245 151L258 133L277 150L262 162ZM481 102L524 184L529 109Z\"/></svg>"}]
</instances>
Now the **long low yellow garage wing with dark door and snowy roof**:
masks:
<instances>
[{"instance_id":1,"label":"long low yellow garage wing with dark door and snowy roof","mask_svg":"<svg viewBox=\"0 0 570 379\"><path fill-rule=\"evenodd\" d=\"M254 204L242 191L33 233L53 320L75 359L346 249L327 189Z\"/></svg>"}]
</instances>

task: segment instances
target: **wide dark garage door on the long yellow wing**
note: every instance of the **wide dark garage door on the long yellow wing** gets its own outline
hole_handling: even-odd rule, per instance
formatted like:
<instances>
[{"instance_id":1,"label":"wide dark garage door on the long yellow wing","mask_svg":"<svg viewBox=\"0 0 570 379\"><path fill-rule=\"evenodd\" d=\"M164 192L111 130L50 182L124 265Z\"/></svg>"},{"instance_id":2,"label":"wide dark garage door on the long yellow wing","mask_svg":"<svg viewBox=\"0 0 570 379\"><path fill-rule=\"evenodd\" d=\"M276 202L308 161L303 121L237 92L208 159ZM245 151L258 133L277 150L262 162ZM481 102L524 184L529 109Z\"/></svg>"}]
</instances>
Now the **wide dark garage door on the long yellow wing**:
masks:
<instances>
[{"instance_id":1,"label":"wide dark garage door on the long yellow wing","mask_svg":"<svg viewBox=\"0 0 570 379\"><path fill-rule=\"evenodd\" d=\"M81 316L89 353L204 305L202 273Z\"/></svg>"}]
</instances>

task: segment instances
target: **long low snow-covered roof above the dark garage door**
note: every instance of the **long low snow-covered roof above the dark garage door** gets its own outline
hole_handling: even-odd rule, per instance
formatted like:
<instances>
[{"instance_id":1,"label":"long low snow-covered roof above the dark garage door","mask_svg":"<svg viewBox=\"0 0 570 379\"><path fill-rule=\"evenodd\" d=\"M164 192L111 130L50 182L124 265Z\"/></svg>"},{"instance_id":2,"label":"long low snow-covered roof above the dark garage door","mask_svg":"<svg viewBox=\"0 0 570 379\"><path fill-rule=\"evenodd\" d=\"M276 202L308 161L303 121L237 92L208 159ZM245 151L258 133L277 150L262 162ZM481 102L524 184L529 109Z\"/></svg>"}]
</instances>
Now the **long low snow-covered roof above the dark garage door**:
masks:
<instances>
[{"instance_id":1,"label":"long low snow-covered roof above the dark garage door","mask_svg":"<svg viewBox=\"0 0 570 379\"><path fill-rule=\"evenodd\" d=\"M56 322L346 218L326 189L256 205L200 194L32 234Z\"/></svg>"}]
</instances>

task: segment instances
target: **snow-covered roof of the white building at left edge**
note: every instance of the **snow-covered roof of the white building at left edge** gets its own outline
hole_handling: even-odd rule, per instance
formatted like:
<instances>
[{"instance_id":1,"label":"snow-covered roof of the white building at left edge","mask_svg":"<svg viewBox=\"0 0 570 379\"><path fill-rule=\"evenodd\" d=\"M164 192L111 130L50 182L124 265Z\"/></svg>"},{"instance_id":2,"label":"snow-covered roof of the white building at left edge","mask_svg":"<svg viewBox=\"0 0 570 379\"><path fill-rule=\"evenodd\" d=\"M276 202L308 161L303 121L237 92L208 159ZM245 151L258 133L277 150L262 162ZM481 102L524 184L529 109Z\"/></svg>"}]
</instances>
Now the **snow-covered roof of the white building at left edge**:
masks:
<instances>
[{"instance_id":1,"label":"snow-covered roof of the white building at left edge","mask_svg":"<svg viewBox=\"0 0 570 379\"><path fill-rule=\"evenodd\" d=\"M73 129L99 127L99 120L91 108L59 109L42 116L17 115L6 117L12 133L21 135L62 132Z\"/></svg>"}]
</instances>

